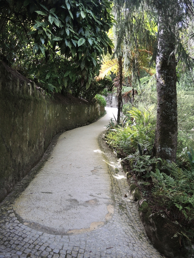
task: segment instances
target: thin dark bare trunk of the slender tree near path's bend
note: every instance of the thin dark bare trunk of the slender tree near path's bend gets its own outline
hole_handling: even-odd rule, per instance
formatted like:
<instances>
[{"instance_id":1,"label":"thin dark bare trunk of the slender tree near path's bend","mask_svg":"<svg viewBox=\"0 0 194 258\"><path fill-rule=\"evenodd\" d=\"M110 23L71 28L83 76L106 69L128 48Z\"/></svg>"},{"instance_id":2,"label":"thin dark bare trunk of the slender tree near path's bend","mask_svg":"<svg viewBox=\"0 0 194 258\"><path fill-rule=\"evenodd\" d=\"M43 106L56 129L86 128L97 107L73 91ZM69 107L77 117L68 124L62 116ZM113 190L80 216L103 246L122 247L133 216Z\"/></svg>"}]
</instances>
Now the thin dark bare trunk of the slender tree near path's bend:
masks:
<instances>
[{"instance_id":1,"label":"thin dark bare trunk of the slender tree near path's bend","mask_svg":"<svg viewBox=\"0 0 194 258\"><path fill-rule=\"evenodd\" d=\"M119 87L118 87L118 113L117 123L120 123L120 116L122 111L122 56L118 58L118 70L119 70Z\"/></svg>"}]
</instances>

